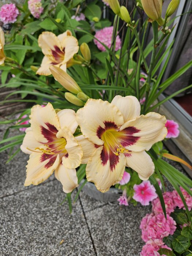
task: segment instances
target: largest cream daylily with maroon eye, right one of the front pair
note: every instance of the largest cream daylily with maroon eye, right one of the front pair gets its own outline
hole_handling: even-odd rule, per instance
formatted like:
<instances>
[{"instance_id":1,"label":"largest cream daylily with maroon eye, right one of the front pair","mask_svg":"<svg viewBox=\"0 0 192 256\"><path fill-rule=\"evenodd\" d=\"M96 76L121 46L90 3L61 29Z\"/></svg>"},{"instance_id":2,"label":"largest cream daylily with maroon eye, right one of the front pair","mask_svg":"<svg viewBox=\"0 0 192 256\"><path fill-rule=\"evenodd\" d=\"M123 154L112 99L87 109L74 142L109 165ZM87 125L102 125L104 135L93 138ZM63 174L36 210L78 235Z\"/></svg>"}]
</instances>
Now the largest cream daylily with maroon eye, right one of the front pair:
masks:
<instances>
[{"instance_id":1,"label":"largest cream daylily with maroon eye, right one of the front pair","mask_svg":"<svg viewBox=\"0 0 192 256\"><path fill-rule=\"evenodd\" d=\"M145 150L165 138L164 116L154 112L140 116L137 98L118 95L111 103L88 99L76 117L84 137L92 143L81 145L87 153L87 180L98 190L106 192L118 183L125 166L138 172L142 180L153 174L154 163Z\"/></svg>"}]
</instances>

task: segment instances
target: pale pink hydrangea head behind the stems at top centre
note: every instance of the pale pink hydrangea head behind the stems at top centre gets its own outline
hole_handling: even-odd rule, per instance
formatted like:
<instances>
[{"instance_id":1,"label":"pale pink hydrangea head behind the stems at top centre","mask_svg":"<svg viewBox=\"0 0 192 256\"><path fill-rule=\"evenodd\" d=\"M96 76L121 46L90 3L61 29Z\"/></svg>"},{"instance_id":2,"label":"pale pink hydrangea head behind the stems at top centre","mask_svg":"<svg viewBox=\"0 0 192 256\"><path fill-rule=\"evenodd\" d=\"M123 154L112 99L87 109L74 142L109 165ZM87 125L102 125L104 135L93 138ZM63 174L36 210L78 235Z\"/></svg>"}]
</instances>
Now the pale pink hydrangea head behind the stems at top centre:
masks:
<instances>
[{"instance_id":1,"label":"pale pink hydrangea head behind the stems at top centre","mask_svg":"<svg viewBox=\"0 0 192 256\"><path fill-rule=\"evenodd\" d=\"M112 36L113 36L113 26L111 27L105 27L104 29L98 30L95 33L95 37L101 41L103 44L108 46L108 48L111 47L112 43ZM105 52L106 49L105 47L99 43L96 39L93 40L94 44L97 45L98 49L101 50L102 52ZM116 45L115 45L115 50L119 50L121 48L121 39L119 35L116 37Z\"/></svg>"}]
</instances>

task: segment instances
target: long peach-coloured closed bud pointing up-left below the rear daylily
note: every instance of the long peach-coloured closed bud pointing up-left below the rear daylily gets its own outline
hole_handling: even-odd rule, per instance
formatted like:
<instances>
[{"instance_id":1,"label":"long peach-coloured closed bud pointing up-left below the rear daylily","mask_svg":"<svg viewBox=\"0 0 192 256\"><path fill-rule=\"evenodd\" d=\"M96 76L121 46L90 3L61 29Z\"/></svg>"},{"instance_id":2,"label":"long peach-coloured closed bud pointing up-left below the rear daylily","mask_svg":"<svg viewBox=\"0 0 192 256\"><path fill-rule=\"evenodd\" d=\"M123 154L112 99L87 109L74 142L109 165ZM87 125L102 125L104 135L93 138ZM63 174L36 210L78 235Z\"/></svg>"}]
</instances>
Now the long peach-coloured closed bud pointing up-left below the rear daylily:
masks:
<instances>
[{"instance_id":1,"label":"long peach-coloured closed bud pointing up-left below the rear daylily","mask_svg":"<svg viewBox=\"0 0 192 256\"><path fill-rule=\"evenodd\" d=\"M72 79L71 76L69 76L63 69L58 68L56 66L51 66L50 71L54 78L68 91L74 94L80 93L82 90L78 86L78 84L75 82L74 79Z\"/></svg>"}]
</instances>

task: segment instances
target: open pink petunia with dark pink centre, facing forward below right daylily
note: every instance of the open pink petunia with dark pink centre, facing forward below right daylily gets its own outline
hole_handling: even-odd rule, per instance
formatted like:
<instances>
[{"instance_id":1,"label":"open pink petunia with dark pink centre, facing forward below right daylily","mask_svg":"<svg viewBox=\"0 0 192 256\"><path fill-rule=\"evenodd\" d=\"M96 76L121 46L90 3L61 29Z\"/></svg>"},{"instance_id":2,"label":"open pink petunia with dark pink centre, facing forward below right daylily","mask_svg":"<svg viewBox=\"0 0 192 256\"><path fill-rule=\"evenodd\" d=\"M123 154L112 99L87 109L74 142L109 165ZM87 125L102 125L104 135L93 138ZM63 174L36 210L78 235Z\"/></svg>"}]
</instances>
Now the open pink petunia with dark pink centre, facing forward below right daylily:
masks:
<instances>
[{"instance_id":1,"label":"open pink petunia with dark pink centre, facing forward below right daylily","mask_svg":"<svg viewBox=\"0 0 192 256\"><path fill-rule=\"evenodd\" d=\"M155 188L151 185L150 181L143 181L139 185L135 184L133 189L135 190L133 199L140 202L142 205L149 205L150 201L157 198Z\"/></svg>"}]
</instances>

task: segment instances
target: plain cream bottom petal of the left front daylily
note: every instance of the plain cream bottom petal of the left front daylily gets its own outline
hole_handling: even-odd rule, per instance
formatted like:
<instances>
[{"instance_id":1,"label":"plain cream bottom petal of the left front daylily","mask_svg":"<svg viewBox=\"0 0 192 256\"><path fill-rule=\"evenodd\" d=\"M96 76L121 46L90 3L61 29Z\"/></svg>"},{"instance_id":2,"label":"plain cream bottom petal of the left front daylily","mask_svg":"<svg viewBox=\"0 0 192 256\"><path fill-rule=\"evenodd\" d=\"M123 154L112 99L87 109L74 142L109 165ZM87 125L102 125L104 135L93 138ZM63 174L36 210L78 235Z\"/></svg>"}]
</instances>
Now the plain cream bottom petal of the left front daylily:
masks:
<instances>
[{"instance_id":1,"label":"plain cream bottom petal of the left front daylily","mask_svg":"<svg viewBox=\"0 0 192 256\"><path fill-rule=\"evenodd\" d=\"M63 185L63 191L65 193L70 193L74 188L79 186L76 170L68 169L62 163L55 170L54 175Z\"/></svg>"}]
</instances>

